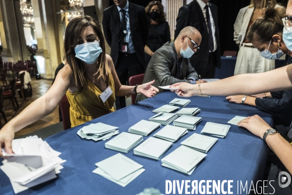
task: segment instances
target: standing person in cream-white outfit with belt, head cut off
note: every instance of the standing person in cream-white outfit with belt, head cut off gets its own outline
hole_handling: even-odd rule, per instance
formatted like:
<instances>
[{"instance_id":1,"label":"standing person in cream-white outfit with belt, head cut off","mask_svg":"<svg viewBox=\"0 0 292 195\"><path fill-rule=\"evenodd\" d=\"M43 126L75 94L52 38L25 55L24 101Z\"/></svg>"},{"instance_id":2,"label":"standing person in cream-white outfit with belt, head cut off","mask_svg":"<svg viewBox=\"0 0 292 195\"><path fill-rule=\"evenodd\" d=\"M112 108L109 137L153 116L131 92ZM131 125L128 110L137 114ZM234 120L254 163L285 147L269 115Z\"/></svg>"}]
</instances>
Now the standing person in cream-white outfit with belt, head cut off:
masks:
<instances>
[{"instance_id":1,"label":"standing person in cream-white outfit with belt, head cut off","mask_svg":"<svg viewBox=\"0 0 292 195\"><path fill-rule=\"evenodd\" d=\"M234 75L245 73L263 73L275 68L275 61L262 58L253 44L246 39L246 34L259 17L267 0L251 0L251 4L239 10L234 24L234 40L239 47Z\"/></svg>"}]
</instances>

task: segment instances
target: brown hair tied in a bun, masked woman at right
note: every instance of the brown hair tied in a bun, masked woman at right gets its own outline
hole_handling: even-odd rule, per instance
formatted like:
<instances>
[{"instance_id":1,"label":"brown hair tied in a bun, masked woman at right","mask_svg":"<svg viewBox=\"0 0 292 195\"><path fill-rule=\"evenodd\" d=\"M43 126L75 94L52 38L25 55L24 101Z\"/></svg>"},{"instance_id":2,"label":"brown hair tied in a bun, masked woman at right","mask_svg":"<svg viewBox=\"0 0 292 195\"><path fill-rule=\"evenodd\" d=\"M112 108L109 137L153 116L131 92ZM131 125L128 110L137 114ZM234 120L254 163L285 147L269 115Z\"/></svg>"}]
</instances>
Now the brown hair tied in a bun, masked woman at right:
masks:
<instances>
[{"instance_id":1,"label":"brown hair tied in a bun, masked woman at right","mask_svg":"<svg viewBox=\"0 0 292 195\"><path fill-rule=\"evenodd\" d=\"M282 18L286 17L286 8L271 0L263 11L264 16L256 19L247 33L246 38L251 42L269 43L273 35L283 33Z\"/></svg>"}]
</instances>

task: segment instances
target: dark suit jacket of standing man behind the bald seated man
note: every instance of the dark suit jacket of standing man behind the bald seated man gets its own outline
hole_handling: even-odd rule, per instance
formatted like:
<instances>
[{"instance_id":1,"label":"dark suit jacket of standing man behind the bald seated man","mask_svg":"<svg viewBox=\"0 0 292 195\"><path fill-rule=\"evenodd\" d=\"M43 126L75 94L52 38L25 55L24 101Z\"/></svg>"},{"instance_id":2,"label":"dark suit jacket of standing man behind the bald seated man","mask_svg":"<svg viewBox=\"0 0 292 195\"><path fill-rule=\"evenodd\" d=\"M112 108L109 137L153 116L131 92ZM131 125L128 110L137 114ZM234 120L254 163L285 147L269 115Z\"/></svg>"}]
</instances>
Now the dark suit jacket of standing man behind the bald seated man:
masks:
<instances>
[{"instance_id":1,"label":"dark suit jacket of standing man behind the bald seated man","mask_svg":"<svg viewBox=\"0 0 292 195\"><path fill-rule=\"evenodd\" d=\"M221 67L221 54L220 54L220 43L219 43L219 28L218 28L218 8L213 3L209 2L210 10L215 23L215 37L217 41L216 54L216 66ZM197 0L193 0L187 5L183 5L177 17L177 25L175 29L175 39L180 34L181 30L186 26L195 27L202 36L200 50L190 58L192 66L197 70L203 70L208 62L209 58L209 33L208 28L202 13L201 7ZM197 71L198 71L197 70Z\"/></svg>"}]
</instances>

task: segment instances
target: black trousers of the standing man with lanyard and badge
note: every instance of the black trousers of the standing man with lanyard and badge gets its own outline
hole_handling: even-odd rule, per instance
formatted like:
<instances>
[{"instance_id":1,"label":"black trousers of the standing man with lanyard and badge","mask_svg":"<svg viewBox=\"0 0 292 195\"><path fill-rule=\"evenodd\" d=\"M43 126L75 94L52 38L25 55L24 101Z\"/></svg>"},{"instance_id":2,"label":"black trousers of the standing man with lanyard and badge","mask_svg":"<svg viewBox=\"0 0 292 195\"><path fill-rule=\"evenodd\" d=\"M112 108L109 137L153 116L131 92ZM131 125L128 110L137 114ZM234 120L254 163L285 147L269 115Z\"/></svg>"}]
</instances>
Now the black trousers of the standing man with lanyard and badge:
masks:
<instances>
[{"instance_id":1,"label":"black trousers of the standing man with lanyard and badge","mask_svg":"<svg viewBox=\"0 0 292 195\"><path fill-rule=\"evenodd\" d=\"M126 56L124 53L119 52L117 65L115 67L118 78L122 85L126 85L128 78L145 73L144 66L138 59L136 53L128 54ZM115 97L116 109L126 107L126 97Z\"/></svg>"}]
</instances>

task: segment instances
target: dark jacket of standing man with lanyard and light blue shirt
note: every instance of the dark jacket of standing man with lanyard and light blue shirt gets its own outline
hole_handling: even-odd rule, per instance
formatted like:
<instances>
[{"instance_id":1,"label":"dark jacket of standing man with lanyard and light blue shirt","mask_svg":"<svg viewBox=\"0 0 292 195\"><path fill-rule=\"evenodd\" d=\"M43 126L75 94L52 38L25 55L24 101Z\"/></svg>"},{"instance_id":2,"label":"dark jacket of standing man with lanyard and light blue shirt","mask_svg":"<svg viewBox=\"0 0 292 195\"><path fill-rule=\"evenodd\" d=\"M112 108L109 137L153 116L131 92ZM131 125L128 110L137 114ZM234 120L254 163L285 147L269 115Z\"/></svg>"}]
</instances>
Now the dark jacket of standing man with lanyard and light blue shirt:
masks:
<instances>
[{"instance_id":1,"label":"dark jacket of standing man with lanyard and light blue shirt","mask_svg":"<svg viewBox=\"0 0 292 195\"><path fill-rule=\"evenodd\" d=\"M144 47L148 39L148 19L145 8L129 2L130 31L135 52L141 63L145 66ZM112 5L103 11L103 30L107 42L110 45L110 56L116 66L119 54L119 39L121 37L120 15L116 5Z\"/></svg>"}]
</instances>

